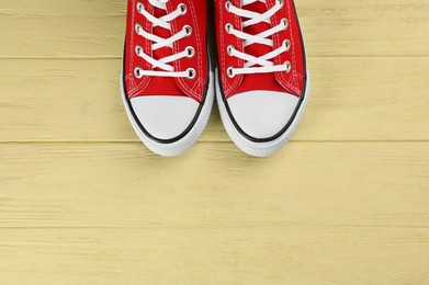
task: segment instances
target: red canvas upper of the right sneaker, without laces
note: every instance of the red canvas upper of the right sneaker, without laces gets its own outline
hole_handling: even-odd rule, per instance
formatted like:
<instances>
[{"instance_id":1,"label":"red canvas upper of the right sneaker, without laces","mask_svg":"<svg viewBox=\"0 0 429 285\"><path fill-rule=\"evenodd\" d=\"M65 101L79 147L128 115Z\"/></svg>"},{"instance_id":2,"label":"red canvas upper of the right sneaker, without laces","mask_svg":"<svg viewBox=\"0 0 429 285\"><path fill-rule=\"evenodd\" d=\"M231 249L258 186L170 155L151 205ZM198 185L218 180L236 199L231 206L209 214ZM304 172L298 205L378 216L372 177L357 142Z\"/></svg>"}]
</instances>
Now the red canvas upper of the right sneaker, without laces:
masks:
<instances>
[{"instance_id":1,"label":"red canvas upper of the right sneaker, without laces","mask_svg":"<svg viewBox=\"0 0 429 285\"><path fill-rule=\"evenodd\" d=\"M267 5L262 2L255 2L246 7L241 7L240 0L229 0L234 5L249 11L263 13L272 8L278 0L267 0ZM283 8L278 11L270 19L270 24L260 23L251 25L242 30L241 23L246 19L230 13L226 9L227 0L215 0L215 25L218 52L218 68L222 88L226 99L247 91L267 90L287 92L296 96L303 95L304 79L306 76L304 44L302 42L300 24L295 12L293 0L284 0ZM252 44L247 46L244 50L244 41L237 38L235 35L228 34L225 30L227 23L232 23L235 30L246 32L248 34L257 35L268 29L278 25L282 19L287 19L289 26L286 30L275 33L271 39L273 47L261 44ZM290 72L272 72L272 73L252 73L252 75L236 75L230 78L227 76L228 67L242 68L244 60L228 55L227 47L234 45L239 52L260 57L273 49L279 48L283 41L291 42L291 49L273 59L275 65L281 65L287 60L291 62Z\"/></svg>"}]
</instances>

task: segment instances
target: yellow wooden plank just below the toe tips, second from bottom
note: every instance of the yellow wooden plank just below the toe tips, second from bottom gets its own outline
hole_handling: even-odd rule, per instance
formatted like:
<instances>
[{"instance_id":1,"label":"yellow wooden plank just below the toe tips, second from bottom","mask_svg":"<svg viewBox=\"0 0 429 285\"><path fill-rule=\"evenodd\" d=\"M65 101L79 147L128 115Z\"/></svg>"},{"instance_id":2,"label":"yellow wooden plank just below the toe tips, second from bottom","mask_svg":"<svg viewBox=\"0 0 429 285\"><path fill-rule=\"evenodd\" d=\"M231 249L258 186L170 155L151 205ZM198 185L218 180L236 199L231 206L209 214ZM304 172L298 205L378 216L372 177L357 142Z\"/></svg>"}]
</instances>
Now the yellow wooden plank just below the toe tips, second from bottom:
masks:
<instances>
[{"instance_id":1,"label":"yellow wooden plank just below the toe tips, second from bottom","mask_svg":"<svg viewBox=\"0 0 429 285\"><path fill-rule=\"evenodd\" d=\"M2 144L0 227L429 225L429 142L291 142L253 159L199 144Z\"/></svg>"}]
</instances>

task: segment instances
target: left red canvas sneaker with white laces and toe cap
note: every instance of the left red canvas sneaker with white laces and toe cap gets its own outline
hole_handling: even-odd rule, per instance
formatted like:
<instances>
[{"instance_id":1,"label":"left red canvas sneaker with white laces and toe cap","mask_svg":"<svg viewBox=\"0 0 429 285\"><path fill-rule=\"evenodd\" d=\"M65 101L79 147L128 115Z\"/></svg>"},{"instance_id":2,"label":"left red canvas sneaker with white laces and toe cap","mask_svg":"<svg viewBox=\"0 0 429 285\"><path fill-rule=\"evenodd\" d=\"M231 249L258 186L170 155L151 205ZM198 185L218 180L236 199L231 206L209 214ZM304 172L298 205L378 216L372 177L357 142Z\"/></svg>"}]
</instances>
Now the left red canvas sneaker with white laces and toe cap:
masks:
<instances>
[{"instance_id":1,"label":"left red canvas sneaker with white laces and toe cap","mask_svg":"<svg viewBox=\"0 0 429 285\"><path fill-rule=\"evenodd\" d=\"M202 0L128 0L124 104L140 140L161 156L188 150L208 121L206 9Z\"/></svg>"}]
</instances>

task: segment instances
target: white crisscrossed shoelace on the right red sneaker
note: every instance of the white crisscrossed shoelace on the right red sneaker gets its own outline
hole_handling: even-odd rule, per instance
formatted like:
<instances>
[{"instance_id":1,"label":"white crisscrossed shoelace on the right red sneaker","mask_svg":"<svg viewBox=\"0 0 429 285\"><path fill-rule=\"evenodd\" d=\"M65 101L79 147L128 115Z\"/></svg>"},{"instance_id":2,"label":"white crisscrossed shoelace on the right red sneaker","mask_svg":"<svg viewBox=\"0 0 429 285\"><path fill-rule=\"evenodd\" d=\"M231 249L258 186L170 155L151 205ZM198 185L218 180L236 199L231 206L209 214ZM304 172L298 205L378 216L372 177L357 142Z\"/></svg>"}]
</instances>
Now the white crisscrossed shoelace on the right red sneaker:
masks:
<instances>
[{"instance_id":1,"label":"white crisscrossed shoelace on the right red sneaker","mask_svg":"<svg viewBox=\"0 0 429 285\"><path fill-rule=\"evenodd\" d=\"M262 2L264 4L266 0L241 0L241 7L246 7L248 4L255 3L255 2ZM276 0L275 4L268 9L264 13L257 13L249 10L245 10L238 7L235 7L230 1L226 2L226 10L230 13L234 13L242 19L247 19L242 22L242 29L256 25L259 23L269 23L272 15L274 15L280 9L282 9L284 2L283 0ZM236 37L244 41L244 47L250 46L252 44L262 44L266 46L273 47L273 41L269 37L286 30L289 26L287 19L282 19L281 22L262 33L259 33L257 35L247 34L245 32L241 32L239 30L234 29L234 25L232 23L227 23L225 29L226 32L229 34L235 35ZM227 48L227 53L230 56L238 57L242 60L245 60L245 67L244 68L236 68L236 67L229 67L227 69L228 77L233 78L236 75L248 75L248 73L267 73L267 72L279 72L279 71L291 71L291 62L286 61L282 65L274 65L272 59L276 56L279 56L282 53L289 52L291 48L291 42L289 39L283 41L283 44L260 57L255 57L252 55L241 53L237 50L233 45L229 45ZM255 67L258 65L259 67Z\"/></svg>"}]
</instances>

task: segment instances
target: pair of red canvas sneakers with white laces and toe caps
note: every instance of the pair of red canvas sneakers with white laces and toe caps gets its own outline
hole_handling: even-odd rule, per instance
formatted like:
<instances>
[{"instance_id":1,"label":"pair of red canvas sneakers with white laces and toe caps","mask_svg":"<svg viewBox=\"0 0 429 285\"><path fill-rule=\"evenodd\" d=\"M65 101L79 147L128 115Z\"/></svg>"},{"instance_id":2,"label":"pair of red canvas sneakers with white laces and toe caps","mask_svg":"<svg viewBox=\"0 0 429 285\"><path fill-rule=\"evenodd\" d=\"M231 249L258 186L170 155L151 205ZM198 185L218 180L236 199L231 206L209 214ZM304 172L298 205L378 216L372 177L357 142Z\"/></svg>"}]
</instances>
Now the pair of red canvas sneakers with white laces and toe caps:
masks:
<instances>
[{"instance_id":1,"label":"pair of red canvas sneakers with white laces and toe caps","mask_svg":"<svg viewBox=\"0 0 429 285\"><path fill-rule=\"evenodd\" d=\"M309 95L294 2L215 0L214 13L216 76L207 0L128 0L121 78L128 117L149 149L178 156L204 130L216 96L233 141L270 156L291 138Z\"/></svg>"}]
</instances>

